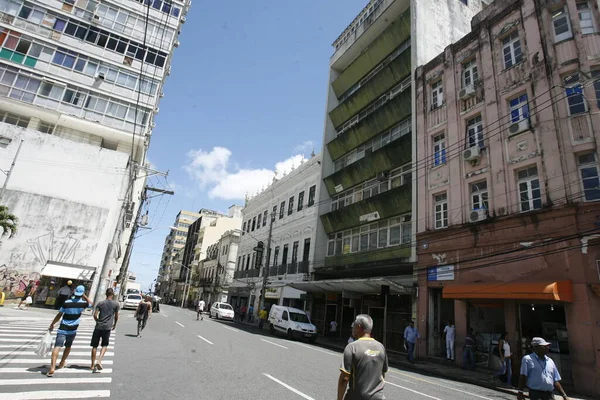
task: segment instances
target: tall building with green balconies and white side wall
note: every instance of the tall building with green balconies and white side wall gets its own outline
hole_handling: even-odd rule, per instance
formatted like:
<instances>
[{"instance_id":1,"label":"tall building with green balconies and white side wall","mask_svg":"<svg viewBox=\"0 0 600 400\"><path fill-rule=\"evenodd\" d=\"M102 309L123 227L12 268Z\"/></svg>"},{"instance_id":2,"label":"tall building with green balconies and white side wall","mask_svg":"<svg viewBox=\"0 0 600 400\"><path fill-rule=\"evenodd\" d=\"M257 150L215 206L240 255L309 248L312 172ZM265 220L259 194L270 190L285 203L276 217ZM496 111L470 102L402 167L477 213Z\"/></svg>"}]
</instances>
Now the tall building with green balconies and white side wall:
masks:
<instances>
[{"instance_id":1,"label":"tall building with green balconies and white side wall","mask_svg":"<svg viewBox=\"0 0 600 400\"><path fill-rule=\"evenodd\" d=\"M314 281L295 287L311 293L312 318L336 320L340 335L369 312L376 336L402 349L415 293L411 73L466 34L481 6L372 0L333 43L317 230L324 245Z\"/></svg>"}]
</instances>

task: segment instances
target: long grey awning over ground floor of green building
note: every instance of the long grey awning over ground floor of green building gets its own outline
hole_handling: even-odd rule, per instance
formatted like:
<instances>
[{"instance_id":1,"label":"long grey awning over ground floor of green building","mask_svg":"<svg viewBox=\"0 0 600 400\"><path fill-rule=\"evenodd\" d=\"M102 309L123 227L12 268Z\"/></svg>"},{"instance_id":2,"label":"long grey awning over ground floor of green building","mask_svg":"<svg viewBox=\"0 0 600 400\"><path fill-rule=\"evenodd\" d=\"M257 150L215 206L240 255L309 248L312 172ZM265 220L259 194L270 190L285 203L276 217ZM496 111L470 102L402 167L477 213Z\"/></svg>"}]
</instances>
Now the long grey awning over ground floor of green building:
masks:
<instances>
[{"instance_id":1,"label":"long grey awning over ground floor of green building","mask_svg":"<svg viewBox=\"0 0 600 400\"><path fill-rule=\"evenodd\" d=\"M413 276L384 277L365 279L331 279L322 281L293 282L289 286L308 293L381 294L381 286L389 286L390 294L410 294L414 292Z\"/></svg>"}]
</instances>

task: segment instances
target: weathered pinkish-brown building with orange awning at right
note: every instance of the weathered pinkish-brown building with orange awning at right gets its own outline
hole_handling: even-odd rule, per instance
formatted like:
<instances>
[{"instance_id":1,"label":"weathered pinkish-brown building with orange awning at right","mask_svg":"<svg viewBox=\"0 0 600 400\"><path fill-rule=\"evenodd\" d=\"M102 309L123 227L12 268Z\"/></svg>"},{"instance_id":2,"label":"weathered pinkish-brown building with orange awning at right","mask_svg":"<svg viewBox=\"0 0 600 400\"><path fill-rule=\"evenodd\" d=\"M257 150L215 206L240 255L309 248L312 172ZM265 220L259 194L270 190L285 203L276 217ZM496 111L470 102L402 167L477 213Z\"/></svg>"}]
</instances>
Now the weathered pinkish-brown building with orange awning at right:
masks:
<instances>
[{"instance_id":1,"label":"weathered pinkish-brown building with orange awning at right","mask_svg":"<svg viewBox=\"0 0 600 400\"><path fill-rule=\"evenodd\" d=\"M484 364L508 332L515 371L541 336L600 393L599 28L593 1L496 0L416 71L421 355L448 319Z\"/></svg>"}]
</instances>

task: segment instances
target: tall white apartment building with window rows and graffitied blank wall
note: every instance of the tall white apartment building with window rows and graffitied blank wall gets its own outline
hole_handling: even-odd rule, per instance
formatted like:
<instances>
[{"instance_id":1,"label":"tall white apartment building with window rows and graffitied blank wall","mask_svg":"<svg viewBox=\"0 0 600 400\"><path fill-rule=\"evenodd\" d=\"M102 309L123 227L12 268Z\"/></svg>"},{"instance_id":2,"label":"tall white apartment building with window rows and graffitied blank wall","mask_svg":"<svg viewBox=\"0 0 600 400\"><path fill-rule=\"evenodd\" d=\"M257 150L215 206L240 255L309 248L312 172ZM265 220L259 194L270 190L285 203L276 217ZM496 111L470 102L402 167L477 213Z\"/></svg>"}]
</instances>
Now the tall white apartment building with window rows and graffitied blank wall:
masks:
<instances>
[{"instance_id":1,"label":"tall white apartment building with window rows and graffitied blank wall","mask_svg":"<svg viewBox=\"0 0 600 400\"><path fill-rule=\"evenodd\" d=\"M0 265L89 283L112 244L102 284L117 276L189 5L0 2L0 168L18 153L2 203L22 222Z\"/></svg>"}]
</instances>

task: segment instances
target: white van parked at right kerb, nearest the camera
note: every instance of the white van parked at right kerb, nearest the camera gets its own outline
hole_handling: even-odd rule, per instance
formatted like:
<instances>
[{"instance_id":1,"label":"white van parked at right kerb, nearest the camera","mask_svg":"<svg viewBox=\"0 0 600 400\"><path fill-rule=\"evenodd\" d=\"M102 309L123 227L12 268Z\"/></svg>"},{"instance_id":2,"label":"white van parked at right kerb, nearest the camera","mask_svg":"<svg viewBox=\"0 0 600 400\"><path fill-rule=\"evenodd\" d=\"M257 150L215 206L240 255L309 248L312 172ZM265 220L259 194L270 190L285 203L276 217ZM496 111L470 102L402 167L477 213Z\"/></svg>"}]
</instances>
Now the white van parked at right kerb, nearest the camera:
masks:
<instances>
[{"instance_id":1,"label":"white van parked at right kerb, nearest the camera","mask_svg":"<svg viewBox=\"0 0 600 400\"><path fill-rule=\"evenodd\" d=\"M289 339L304 338L311 342L317 340L317 327L310 322L302 310L291 307L272 306L269 312L271 333L285 333Z\"/></svg>"}]
</instances>

